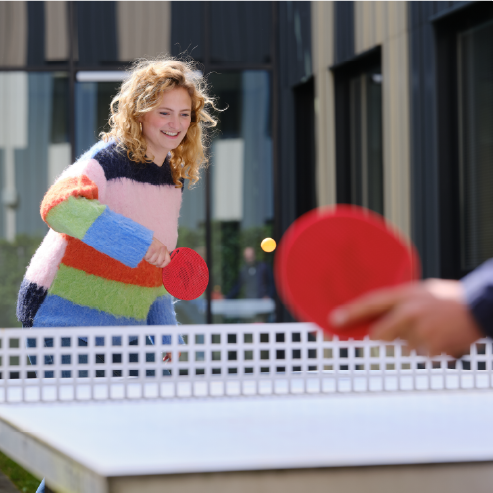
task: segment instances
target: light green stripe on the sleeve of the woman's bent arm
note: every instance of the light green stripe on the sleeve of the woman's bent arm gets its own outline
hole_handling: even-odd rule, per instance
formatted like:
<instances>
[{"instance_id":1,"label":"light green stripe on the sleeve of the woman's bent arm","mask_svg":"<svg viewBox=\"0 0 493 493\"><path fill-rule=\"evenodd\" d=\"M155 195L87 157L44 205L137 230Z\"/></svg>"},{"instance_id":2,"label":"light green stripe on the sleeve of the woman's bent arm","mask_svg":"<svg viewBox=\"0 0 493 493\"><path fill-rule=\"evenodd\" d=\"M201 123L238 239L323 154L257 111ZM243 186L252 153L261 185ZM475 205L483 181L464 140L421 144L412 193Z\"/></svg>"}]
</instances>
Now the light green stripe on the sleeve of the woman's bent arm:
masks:
<instances>
[{"instance_id":1,"label":"light green stripe on the sleeve of the woman's bent arm","mask_svg":"<svg viewBox=\"0 0 493 493\"><path fill-rule=\"evenodd\" d=\"M97 200L69 196L46 215L52 229L82 240L92 223L104 212L106 206Z\"/></svg>"}]
</instances>

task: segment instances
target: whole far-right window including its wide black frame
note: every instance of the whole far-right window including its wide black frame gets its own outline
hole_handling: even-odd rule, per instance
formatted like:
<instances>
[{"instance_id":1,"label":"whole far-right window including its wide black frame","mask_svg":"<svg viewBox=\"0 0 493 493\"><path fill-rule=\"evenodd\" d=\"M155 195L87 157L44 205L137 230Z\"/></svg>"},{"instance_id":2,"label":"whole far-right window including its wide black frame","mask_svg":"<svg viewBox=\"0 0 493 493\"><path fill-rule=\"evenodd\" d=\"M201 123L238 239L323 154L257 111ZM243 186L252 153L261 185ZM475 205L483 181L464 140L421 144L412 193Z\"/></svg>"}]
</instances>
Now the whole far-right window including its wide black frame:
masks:
<instances>
[{"instance_id":1,"label":"whole far-right window including its wide black frame","mask_svg":"<svg viewBox=\"0 0 493 493\"><path fill-rule=\"evenodd\" d=\"M493 257L493 4L435 23L440 275Z\"/></svg>"}]
</instances>

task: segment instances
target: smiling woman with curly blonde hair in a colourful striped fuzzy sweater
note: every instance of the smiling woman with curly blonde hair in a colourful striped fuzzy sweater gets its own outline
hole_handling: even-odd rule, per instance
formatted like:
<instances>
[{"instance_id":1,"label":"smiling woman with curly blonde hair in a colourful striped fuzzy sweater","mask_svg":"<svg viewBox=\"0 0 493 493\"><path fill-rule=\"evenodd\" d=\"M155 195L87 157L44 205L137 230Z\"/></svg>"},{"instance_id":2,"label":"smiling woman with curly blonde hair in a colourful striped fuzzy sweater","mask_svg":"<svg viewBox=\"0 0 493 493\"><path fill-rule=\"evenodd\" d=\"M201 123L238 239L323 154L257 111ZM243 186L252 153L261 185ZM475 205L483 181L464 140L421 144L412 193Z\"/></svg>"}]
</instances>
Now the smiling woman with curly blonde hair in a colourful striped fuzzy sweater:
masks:
<instances>
[{"instance_id":1,"label":"smiling woman with curly blonde hair in a colourful striped fuzzy sweater","mask_svg":"<svg viewBox=\"0 0 493 493\"><path fill-rule=\"evenodd\" d=\"M19 291L24 327L176 324L161 269L184 182L205 162L213 106L191 64L135 64L111 103L110 131L43 199L50 230Z\"/></svg>"}]
</instances>

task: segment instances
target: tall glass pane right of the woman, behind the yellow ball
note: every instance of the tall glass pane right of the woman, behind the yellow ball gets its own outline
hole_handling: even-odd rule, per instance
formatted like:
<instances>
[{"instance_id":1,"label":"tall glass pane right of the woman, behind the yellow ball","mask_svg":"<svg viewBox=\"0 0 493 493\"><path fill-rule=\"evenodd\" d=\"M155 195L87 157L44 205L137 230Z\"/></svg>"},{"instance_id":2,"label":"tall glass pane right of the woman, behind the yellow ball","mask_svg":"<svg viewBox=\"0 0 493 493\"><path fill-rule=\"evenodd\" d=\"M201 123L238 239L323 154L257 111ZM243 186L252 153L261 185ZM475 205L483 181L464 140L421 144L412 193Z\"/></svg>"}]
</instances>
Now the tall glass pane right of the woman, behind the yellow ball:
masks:
<instances>
[{"instance_id":1,"label":"tall glass pane right of the woman, behind the yellow ball","mask_svg":"<svg viewBox=\"0 0 493 493\"><path fill-rule=\"evenodd\" d=\"M214 323L274 321L270 85L265 71L211 74L219 98L212 144L212 314Z\"/></svg>"}]
</instances>

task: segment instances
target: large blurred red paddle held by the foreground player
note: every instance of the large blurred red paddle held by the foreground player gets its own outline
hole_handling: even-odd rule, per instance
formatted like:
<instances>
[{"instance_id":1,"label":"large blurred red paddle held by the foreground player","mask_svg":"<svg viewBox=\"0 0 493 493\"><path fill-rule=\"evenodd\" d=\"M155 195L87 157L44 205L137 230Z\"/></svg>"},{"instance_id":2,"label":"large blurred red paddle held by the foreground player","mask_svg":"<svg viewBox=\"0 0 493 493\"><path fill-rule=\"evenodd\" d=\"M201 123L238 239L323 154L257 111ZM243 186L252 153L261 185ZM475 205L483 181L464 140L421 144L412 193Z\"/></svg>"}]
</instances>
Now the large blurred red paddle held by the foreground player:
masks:
<instances>
[{"instance_id":1,"label":"large blurred red paddle held by the foreground player","mask_svg":"<svg viewBox=\"0 0 493 493\"><path fill-rule=\"evenodd\" d=\"M274 265L278 292L293 315L343 340L362 339L369 325L334 328L328 320L334 308L419 273L412 245L378 214L349 205L301 216L282 238Z\"/></svg>"}]
</instances>

